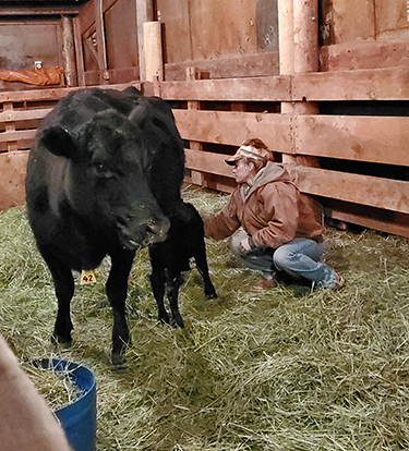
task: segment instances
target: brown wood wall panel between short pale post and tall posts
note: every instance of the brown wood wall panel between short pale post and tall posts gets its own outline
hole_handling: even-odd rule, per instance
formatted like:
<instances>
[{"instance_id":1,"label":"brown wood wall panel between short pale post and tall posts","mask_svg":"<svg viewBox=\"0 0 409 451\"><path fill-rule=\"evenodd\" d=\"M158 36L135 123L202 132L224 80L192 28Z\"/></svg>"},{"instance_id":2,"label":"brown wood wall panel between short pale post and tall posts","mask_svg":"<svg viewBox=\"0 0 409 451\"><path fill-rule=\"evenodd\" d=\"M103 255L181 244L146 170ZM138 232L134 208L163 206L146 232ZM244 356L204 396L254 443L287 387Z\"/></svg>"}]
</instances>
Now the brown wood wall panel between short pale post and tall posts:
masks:
<instances>
[{"instance_id":1,"label":"brown wood wall panel between short pale post and tall posts","mask_svg":"<svg viewBox=\"0 0 409 451\"><path fill-rule=\"evenodd\" d=\"M278 74L276 0L157 0L164 24L165 78Z\"/></svg>"}]
</instances>

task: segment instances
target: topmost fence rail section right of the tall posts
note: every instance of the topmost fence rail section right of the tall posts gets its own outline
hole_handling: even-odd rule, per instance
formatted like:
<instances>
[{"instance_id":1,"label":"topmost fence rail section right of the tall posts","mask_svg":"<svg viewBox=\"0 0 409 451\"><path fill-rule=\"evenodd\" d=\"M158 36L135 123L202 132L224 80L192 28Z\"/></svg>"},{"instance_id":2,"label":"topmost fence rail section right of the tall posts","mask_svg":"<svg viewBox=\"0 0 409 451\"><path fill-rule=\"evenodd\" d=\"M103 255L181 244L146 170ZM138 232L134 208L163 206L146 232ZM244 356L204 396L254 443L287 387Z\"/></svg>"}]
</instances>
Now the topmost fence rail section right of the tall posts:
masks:
<instances>
[{"instance_id":1,"label":"topmost fence rail section right of the tall posts","mask_svg":"<svg viewBox=\"0 0 409 451\"><path fill-rule=\"evenodd\" d=\"M409 69L296 74L293 100L408 100Z\"/></svg>"}]
</instances>

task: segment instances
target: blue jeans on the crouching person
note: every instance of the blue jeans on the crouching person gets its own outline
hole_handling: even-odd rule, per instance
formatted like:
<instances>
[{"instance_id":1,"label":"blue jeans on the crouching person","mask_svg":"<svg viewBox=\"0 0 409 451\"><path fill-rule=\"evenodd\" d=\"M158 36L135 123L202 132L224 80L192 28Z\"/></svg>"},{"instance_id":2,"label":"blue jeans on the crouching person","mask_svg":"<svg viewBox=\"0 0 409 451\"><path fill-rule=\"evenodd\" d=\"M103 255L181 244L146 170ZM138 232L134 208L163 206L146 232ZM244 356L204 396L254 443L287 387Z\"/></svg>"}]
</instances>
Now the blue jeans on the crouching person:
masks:
<instances>
[{"instance_id":1,"label":"blue jeans on the crouching person","mask_svg":"<svg viewBox=\"0 0 409 451\"><path fill-rule=\"evenodd\" d=\"M305 278L320 288L335 287L336 272L320 261L325 243L317 243L310 239L294 239L282 244L277 249L257 247L250 252L240 248L240 242L248 234L244 230L231 239L231 251L249 268L262 271L264 275L274 275L275 269L285 271L294 278Z\"/></svg>"}]
</instances>

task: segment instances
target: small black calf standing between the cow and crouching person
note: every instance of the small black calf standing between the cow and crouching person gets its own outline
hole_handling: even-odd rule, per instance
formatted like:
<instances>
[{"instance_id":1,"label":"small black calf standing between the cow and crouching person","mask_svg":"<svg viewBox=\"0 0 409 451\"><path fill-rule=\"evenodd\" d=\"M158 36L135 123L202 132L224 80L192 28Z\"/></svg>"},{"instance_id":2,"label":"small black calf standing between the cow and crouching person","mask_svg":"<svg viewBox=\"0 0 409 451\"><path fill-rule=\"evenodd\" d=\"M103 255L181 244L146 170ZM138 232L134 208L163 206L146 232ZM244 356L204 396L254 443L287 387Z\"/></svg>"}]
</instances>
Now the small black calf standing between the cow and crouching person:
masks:
<instances>
[{"instance_id":1,"label":"small black calf standing between the cow and crouching person","mask_svg":"<svg viewBox=\"0 0 409 451\"><path fill-rule=\"evenodd\" d=\"M164 305L166 292L172 313L172 324L183 327L178 307L178 293L182 283L181 273L191 269L192 258L203 277L206 297L215 298L217 293L208 276L204 226L197 210L193 205L183 203L169 219L168 237L161 243L149 246L151 285L158 306L159 321L169 324L169 316Z\"/></svg>"}]
</instances>

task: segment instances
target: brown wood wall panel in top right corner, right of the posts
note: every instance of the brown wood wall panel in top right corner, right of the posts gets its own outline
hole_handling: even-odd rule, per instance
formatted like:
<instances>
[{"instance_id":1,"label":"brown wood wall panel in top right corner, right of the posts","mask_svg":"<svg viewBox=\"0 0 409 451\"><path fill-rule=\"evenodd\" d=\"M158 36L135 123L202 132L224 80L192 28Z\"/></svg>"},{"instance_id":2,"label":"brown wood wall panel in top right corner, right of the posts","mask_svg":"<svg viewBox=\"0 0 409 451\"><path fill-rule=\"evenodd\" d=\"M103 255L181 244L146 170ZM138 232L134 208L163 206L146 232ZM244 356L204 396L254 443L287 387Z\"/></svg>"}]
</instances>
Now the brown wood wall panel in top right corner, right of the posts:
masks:
<instances>
[{"instance_id":1,"label":"brown wood wall panel in top right corner, right of the posts","mask_svg":"<svg viewBox=\"0 0 409 451\"><path fill-rule=\"evenodd\" d=\"M409 3L321 0L321 70L408 64Z\"/></svg>"}]
</instances>

